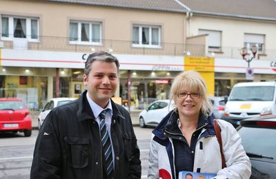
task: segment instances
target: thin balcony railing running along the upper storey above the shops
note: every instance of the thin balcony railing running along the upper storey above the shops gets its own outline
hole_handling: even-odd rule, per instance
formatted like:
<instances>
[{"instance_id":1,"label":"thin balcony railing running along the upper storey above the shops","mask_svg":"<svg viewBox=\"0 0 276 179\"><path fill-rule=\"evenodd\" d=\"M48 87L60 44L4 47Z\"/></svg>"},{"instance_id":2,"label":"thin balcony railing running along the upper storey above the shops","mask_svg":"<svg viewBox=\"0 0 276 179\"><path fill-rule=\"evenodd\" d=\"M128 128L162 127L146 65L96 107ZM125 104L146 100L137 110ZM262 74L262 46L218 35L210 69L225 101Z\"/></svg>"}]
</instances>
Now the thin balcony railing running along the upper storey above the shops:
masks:
<instances>
[{"instance_id":1,"label":"thin balcony railing running along the upper storey above the shops","mask_svg":"<svg viewBox=\"0 0 276 179\"><path fill-rule=\"evenodd\" d=\"M146 54L168 56L213 56L215 58L242 59L240 50L242 47L222 47L219 50L208 52L206 45L184 43L161 43L159 46L134 47L132 41L101 40L99 44L72 43L68 38L57 36L39 36L38 42L26 39L10 41L0 40L0 48L23 49L23 50L46 50L58 52L95 52L99 50L113 52L115 54ZM189 52L189 53L187 53ZM264 49L263 54L257 54L256 59L273 61L276 59L276 50Z\"/></svg>"}]
</instances>

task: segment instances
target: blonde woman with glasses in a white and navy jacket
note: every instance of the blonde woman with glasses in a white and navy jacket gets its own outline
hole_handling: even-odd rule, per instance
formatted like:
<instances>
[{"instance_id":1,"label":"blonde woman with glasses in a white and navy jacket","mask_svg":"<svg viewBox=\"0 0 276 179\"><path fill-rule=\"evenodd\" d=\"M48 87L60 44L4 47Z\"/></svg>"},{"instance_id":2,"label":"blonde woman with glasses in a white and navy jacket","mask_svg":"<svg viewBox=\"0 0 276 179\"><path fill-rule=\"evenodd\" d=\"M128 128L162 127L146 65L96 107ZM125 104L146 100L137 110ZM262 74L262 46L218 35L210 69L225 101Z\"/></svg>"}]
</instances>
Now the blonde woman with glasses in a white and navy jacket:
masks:
<instances>
[{"instance_id":1,"label":"blonde woman with glasses in a white and navy jacket","mask_svg":"<svg viewBox=\"0 0 276 179\"><path fill-rule=\"evenodd\" d=\"M213 178L246 179L250 177L250 160L235 128L217 120L221 129L222 167L219 142L213 125L213 109L206 83L195 71L176 76L170 89L175 109L152 131L148 178L180 178L186 171Z\"/></svg>"}]
</instances>

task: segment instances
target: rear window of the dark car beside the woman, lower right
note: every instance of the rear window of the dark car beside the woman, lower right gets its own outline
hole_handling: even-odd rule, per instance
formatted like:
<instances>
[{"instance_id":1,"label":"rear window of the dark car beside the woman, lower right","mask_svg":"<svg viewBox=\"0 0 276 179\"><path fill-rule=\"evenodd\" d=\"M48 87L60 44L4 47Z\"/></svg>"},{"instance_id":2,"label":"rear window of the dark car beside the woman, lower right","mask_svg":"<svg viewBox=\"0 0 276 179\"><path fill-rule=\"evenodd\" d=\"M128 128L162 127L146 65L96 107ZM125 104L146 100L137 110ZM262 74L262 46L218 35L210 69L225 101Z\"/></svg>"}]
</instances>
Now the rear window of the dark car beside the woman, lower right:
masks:
<instances>
[{"instance_id":1,"label":"rear window of the dark car beside the woman, lower right","mask_svg":"<svg viewBox=\"0 0 276 179\"><path fill-rule=\"evenodd\" d=\"M242 127L239 135L248 156L276 161L276 129Z\"/></svg>"}]
</instances>

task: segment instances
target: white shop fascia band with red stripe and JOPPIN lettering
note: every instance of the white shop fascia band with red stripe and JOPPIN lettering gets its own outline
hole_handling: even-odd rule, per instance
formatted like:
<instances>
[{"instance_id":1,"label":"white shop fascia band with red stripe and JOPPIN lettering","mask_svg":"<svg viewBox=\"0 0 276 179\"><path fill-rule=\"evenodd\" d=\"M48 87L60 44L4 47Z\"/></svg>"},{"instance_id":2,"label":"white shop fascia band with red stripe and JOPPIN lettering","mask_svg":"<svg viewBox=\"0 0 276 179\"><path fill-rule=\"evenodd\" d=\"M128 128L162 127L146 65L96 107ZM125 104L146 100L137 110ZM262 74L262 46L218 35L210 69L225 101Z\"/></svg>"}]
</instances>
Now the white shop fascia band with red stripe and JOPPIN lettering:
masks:
<instances>
[{"instance_id":1,"label":"white shop fascia band with red stripe and JOPPIN lettering","mask_svg":"<svg viewBox=\"0 0 276 179\"><path fill-rule=\"evenodd\" d=\"M84 68L83 53L0 49L1 66ZM20 55L19 55L20 54ZM184 56L113 54L121 70L182 71ZM242 59L215 58L215 72L244 73L248 63ZM276 60L250 63L255 74L276 74Z\"/></svg>"}]
</instances>

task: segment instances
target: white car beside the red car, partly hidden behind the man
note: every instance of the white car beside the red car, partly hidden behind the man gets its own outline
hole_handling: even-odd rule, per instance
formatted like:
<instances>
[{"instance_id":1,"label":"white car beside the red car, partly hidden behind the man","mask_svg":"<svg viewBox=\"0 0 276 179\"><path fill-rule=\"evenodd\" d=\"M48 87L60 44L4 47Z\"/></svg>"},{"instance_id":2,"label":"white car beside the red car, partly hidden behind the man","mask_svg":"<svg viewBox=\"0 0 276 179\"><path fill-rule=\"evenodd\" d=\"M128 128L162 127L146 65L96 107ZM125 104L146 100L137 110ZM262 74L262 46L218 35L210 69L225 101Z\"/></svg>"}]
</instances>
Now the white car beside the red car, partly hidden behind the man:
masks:
<instances>
[{"instance_id":1,"label":"white car beside the red car, partly hidden behind the man","mask_svg":"<svg viewBox=\"0 0 276 179\"><path fill-rule=\"evenodd\" d=\"M49 114L49 112L60 105L66 104L70 101L75 100L76 98L52 98L50 101L48 101L48 103L46 103L45 107L43 108L43 110L41 111L41 113L39 114L39 121L38 121L38 127L39 129L41 128L41 125L43 124L46 116Z\"/></svg>"}]
</instances>

